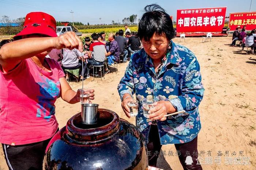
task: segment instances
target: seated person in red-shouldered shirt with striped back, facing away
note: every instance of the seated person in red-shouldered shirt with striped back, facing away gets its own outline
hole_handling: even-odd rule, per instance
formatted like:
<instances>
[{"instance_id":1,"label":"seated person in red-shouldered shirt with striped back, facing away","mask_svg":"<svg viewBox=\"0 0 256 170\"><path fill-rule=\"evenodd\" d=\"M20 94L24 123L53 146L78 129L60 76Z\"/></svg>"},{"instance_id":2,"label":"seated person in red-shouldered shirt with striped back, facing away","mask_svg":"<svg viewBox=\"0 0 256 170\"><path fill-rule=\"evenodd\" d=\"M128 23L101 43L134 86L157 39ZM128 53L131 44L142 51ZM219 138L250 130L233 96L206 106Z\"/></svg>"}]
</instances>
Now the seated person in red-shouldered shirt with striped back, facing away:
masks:
<instances>
[{"instance_id":1,"label":"seated person in red-shouldered shirt with striped back, facing away","mask_svg":"<svg viewBox=\"0 0 256 170\"><path fill-rule=\"evenodd\" d=\"M88 59L87 62L88 64L93 66L104 65L105 56L107 54L105 45L98 41L97 33L93 33L91 35L91 38L93 39L93 43L91 44L90 51L88 52L88 56L90 59ZM109 70L105 68L105 71L108 72Z\"/></svg>"}]
</instances>

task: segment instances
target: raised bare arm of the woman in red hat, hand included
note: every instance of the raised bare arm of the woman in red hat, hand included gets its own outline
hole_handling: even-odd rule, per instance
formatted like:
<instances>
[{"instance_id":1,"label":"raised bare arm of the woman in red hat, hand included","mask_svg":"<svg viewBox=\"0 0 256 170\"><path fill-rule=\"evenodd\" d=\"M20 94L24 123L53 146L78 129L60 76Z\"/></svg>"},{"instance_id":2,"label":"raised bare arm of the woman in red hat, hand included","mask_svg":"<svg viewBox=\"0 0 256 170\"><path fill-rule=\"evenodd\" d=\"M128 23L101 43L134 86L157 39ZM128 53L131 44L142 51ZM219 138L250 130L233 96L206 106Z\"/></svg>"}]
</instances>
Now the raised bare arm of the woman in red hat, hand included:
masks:
<instances>
[{"instance_id":1,"label":"raised bare arm of the woman in red hat, hand included","mask_svg":"<svg viewBox=\"0 0 256 170\"><path fill-rule=\"evenodd\" d=\"M59 37L34 37L13 41L0 48L1 68L3 72L8 72L21 60L53 48L78 48L83 51L83 43L74 32L67 32Z\"/></svg>"}]
</instances>

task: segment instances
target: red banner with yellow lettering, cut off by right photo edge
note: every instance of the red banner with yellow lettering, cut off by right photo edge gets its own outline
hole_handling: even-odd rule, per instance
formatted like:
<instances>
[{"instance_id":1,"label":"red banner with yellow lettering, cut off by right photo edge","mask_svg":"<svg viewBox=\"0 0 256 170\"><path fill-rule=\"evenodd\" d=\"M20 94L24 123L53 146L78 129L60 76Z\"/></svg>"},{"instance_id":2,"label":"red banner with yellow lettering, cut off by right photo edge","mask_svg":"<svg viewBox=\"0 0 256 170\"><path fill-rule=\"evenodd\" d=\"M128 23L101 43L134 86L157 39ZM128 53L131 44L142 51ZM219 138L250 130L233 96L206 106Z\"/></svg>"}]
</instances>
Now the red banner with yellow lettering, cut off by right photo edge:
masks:
<instances>
[{"instance_id":1,"label":"red banner with yellow lettering, cut off by right photo edge","mask_svg":"<svg viewBox=\"0 0 256 170\"><path fill-rule=\"evenodd\" d=\"M246 30L256 28L256 12L240 12L229 14L229 27L230 31L236 30L240 26L246 26Z\"/></svg>"}]
</instances>

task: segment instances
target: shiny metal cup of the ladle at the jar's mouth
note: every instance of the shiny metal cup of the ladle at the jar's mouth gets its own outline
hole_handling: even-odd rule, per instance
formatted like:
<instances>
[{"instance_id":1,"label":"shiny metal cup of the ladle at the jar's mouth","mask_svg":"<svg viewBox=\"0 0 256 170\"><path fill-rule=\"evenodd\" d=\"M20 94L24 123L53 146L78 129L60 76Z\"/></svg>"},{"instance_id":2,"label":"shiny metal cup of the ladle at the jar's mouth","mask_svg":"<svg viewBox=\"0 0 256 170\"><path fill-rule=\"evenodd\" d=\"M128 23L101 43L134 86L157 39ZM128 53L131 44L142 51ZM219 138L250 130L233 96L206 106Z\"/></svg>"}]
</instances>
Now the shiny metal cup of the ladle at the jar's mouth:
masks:
<instances>
[{"instance_id":1,"label":"shiny metal cup of the ladle at the jar's mouth","mask_svg":"<svg viewBox=\"0 0 256 170\"><path fill-rule=\"evenodd\" d=\"M82 123L96 124L99 119L98 104L85 103L82 104Z\"/></svg>"}]
</instances>

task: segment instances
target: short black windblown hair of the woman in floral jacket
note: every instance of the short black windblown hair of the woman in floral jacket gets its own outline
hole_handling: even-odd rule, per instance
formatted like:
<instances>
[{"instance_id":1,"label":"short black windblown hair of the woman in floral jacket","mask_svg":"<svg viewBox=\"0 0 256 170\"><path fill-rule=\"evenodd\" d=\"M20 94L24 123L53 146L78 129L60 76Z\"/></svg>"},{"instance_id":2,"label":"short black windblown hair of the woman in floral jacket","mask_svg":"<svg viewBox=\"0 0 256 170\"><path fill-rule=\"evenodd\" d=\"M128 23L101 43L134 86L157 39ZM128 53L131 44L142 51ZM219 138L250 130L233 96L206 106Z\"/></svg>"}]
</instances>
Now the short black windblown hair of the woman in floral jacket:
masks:
<instances>
[{"instance_id":1,"label":"short black windblown hair of the woman in floral jacket","mask_svg":"<svg viewBox=\"0 0 256 170\"><path fill-rule=\"evenodd\" d=\"M173 39L173 22L165 10L157 4L147 5L140 20L138 36L140 39L150 40L154 33L165 35L168 40Z\"/></svg>"}]
</instances>

